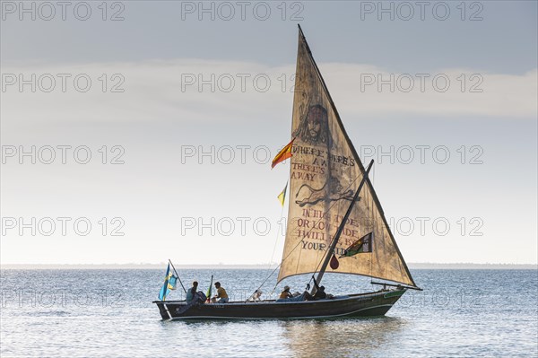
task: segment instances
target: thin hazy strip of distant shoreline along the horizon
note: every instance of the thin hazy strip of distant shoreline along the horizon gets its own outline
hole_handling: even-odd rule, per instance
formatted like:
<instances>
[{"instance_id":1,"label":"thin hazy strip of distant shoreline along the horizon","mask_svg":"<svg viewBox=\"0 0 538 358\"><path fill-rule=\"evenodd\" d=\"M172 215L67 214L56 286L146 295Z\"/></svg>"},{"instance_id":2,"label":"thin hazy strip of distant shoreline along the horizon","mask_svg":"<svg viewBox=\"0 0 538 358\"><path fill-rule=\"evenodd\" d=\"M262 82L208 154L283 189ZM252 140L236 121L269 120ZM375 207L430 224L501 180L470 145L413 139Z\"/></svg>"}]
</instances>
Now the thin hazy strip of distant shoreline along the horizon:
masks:
<instances>
[{"instance_id":1,"label":"thin hazy strip of distant shoreline along the horizon","mask_svg":"<svg viewBox=\"0 0 538 358\"><path fill-rule=\"evenodd\" d=\"M0 265L0 269L10 270L10 269L94 269L94 270L103 270L103 269L162 269L167 266L167 263L161 264L108 264L108 265L54 265L54 264L15 264L15 265ZM175 265L177 269L259 269L266 270L268 268L274 268L276 265ZM536 270L538 269L538 264L471 264L471 263L461 263L461 264L432 264L432 263L410 263L408 264L410 269L460 269L460 270L469 270L469 269L490 269L490 270Z\"/></svg>"}]
</instances>

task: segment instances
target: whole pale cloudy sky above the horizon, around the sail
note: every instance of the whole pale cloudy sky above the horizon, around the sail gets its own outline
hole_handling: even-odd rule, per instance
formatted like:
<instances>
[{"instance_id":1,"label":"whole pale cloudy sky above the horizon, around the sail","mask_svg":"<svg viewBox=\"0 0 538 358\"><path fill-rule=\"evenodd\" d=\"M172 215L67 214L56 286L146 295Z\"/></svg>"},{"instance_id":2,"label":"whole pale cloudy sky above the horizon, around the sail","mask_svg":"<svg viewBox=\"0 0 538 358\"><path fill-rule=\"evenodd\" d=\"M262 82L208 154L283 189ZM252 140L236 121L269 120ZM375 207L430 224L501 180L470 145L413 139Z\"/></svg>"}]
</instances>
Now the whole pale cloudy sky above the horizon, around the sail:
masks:
<instances>
[{"instance_id":1,"label":"whole pale cloudy sky above the horizon, around the sail","mask_svg":"<svg viewBox=\"0 0 538 358\"><path fill-rule=\"evenodd\" d=\"M407 262L538 262L536 2L0 7L4 265L279 262L298 23Z\"/></svg>"}]
</instances>

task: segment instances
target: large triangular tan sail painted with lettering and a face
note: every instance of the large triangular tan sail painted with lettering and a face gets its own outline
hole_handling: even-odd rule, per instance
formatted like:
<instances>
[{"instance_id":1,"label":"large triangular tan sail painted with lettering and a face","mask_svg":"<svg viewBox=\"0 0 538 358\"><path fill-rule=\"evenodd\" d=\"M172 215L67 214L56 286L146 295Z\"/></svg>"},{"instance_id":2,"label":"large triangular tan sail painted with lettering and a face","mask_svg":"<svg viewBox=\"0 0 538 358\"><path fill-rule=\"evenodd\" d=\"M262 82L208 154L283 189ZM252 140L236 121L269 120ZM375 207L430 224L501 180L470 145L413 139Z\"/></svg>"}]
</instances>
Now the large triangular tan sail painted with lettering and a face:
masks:
<instances>
[{"instance_id":1,"label":"large triangular tan sail painted with lettering and a face","mask_svg":"<svg viewBox=\"0 0 538 358\"><path fill-rule=\"evenodd\" d=\"M319 269L365 172L300 28L291 137L295 141L290 208L279 282ZM336 256L369 232L373 232L371 252L339 258L339 266L327 272L415 286L367 180L338 241Z\"/></svg>"}]
</instances>

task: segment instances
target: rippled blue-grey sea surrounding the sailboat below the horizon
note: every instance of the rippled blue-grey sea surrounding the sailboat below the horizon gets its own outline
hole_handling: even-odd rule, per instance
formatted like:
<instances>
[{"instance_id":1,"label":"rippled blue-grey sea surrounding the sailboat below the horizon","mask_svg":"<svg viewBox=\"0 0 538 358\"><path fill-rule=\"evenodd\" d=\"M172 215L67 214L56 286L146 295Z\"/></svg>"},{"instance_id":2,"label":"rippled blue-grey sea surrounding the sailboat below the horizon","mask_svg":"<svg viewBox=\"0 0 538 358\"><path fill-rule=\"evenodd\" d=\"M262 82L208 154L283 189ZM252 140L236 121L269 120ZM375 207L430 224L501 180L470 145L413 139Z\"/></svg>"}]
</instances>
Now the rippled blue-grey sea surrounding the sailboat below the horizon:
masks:
<instances>
[{"instance_id":1,"label":"rippled blue-grey sea surrounding the sailboat below the horizon","mask_svg":"<svg viewBox=\"0 0 538 358\"><path fill-rule=\"evenodd\" d=\"M0 356L538 357L537 270L412 270L424 291L405 293L384 317L196 322L161 320L152 301L164 270L2 270ZM204 290L214 275L237 300L268 274L179 272ZM275 292L307 281L292 277ZM334 294L372 287L349 275L324 284Z\"/></svg>"}]
</instances>

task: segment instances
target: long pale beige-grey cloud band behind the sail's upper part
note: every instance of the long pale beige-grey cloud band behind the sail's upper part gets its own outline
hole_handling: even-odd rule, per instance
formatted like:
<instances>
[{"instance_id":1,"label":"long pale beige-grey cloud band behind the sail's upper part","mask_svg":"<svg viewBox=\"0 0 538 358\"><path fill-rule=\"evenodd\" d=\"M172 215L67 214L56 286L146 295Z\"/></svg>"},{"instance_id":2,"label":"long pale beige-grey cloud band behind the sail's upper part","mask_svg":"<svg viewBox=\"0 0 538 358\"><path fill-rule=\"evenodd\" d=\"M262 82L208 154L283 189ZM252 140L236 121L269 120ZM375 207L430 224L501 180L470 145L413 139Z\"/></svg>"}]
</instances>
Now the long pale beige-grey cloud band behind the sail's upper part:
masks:
<instances>
[{"instance_id":1,"label":"long pale beige-grey cloud band behind the sail's upper part","mask_svg":"<svg viewBox=\"0 0 538 358\"><path fill-rule=\"evenodd\" d=\"M521 75L457 68L397 74L372 65L319 66L336 106L346 114L537 116L536 69ZM3 126L156 120L232 124L259 113L287 118L294 72L294 65L197 59L5 65Z\"/></svg>"}]
</instances>

